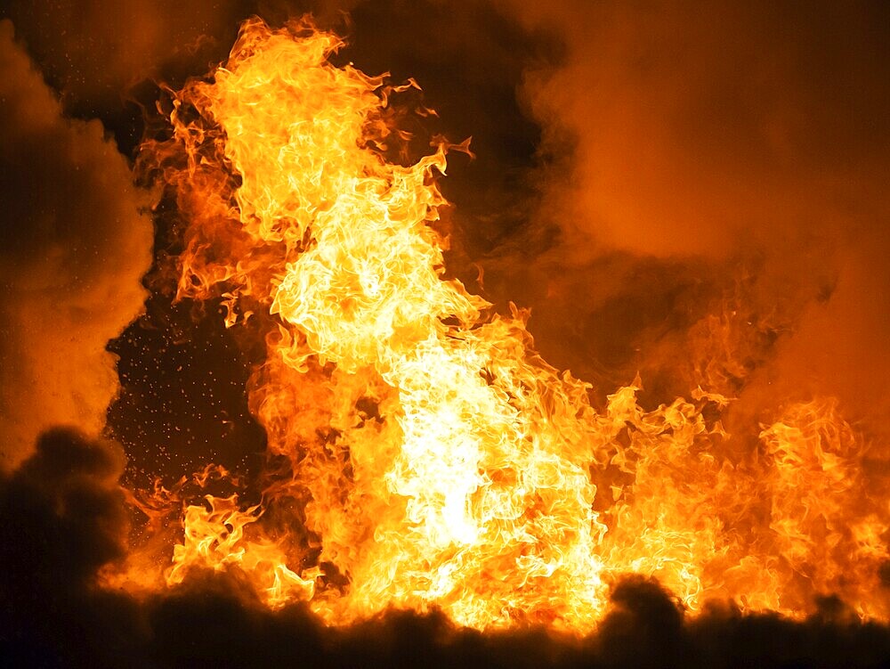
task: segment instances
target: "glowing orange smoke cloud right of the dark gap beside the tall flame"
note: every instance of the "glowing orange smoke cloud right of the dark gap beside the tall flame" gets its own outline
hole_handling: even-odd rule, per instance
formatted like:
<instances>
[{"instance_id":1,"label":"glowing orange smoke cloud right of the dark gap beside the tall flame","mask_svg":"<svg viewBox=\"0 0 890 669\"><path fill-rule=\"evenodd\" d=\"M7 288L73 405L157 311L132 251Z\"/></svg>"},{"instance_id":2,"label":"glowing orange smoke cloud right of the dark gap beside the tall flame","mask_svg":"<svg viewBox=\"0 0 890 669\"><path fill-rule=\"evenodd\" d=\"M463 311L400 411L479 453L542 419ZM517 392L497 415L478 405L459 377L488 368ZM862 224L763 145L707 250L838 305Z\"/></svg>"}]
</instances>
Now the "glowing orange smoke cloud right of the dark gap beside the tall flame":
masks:
<instances>
[{"instance_id":1,"label":"glowing orange smoke cloud right of the dark gap beside the tall flame","mask_svg":"<svg viewBox=\"0 0 890 669\"><path fill-rule=\"evenodd\" d=\"M700 355L702 319L732 320L741 301L732 337L763 341L737 361L743 383L722 389L748 386L750 412L839 396L878 430L890 378L886 4L505 6L567 52L522 89L542 151L562 156L543 173L537 216L559 243L525 270L545 352L595 380L679 376L669 391L688 393L701 375L677 361Z\"/></svg>"}]
</instances>

